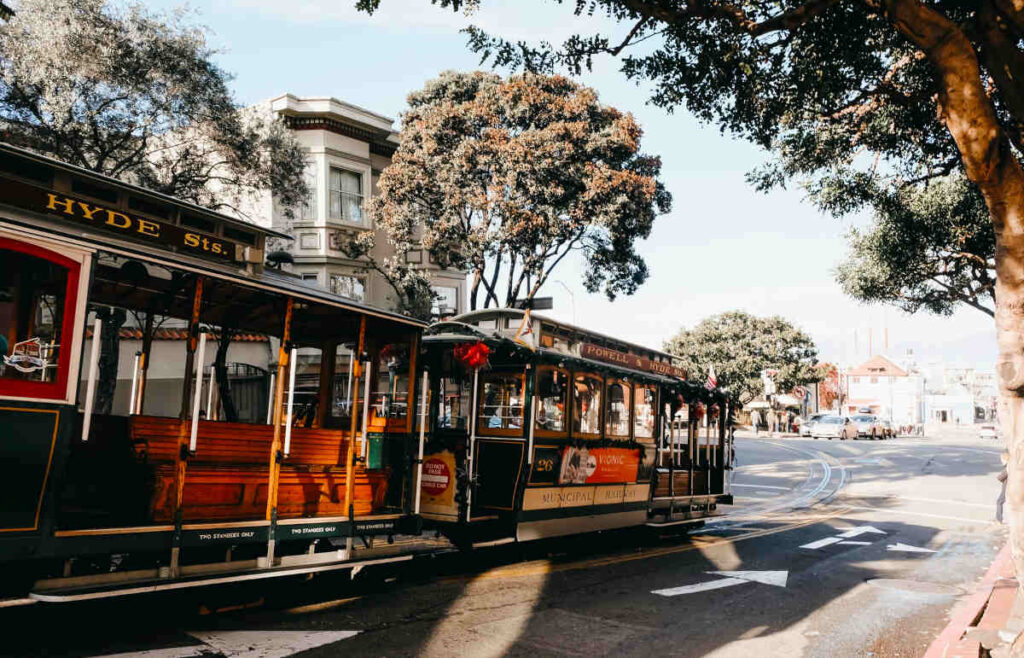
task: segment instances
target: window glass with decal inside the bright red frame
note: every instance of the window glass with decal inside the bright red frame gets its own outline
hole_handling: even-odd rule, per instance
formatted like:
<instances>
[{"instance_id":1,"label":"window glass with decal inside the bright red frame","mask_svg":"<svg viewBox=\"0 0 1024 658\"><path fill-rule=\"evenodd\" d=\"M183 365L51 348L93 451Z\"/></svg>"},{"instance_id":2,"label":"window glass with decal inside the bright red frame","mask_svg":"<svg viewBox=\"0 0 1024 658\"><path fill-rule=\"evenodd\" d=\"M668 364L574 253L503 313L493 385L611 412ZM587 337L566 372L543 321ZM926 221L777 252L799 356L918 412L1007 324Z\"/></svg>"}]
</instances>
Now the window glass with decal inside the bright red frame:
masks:
<instances>
[{"instance_id":1,"label":"window glass with decal inside the bright red frame","mask_svg":"<svg viewBox=\"0 0 1024 658\"><path fill-rule=\"evenodd\" d=\"M68 267L3 247L0 262L4 264L0 268L0 380L53 384L65 355L60 347L66 339Z\"/></svg>"}]
</instances>

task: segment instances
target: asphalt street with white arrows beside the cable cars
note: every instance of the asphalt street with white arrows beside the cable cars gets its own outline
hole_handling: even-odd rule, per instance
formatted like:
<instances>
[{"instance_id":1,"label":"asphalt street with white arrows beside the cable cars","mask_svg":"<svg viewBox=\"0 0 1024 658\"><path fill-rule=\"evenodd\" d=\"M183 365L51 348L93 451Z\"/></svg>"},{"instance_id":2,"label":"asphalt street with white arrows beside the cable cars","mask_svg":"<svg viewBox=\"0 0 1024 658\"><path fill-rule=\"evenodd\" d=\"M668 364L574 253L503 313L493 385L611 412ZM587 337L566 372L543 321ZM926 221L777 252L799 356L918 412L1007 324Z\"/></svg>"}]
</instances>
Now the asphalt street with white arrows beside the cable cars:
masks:
<instances>
[{"instance_id":1,"label":"asphalt street with white arrows beside the cable cars","mask_svg":"<svg viewBox=\"0 0 1024 658\"><path fill-rule=\"evenodd\" d=\"M0 611L4 655L920 656L1005 541L973 435L736 441L703 528Z\"/></svg>"}]
</instances>

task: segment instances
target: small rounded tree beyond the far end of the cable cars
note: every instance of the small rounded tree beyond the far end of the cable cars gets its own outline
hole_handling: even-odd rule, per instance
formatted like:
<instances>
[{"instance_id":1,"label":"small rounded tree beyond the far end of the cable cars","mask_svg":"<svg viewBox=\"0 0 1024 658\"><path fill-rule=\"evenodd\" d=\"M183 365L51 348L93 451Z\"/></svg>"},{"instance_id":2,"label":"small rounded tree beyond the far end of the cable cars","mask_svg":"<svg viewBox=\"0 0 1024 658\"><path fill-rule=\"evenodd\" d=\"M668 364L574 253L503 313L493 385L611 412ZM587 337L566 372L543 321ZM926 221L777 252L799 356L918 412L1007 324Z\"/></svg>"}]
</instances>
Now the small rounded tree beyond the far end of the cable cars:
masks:
<instances>
[{"instance_id":1,"label":"small rounded tree beyond the far end of the cable cars","mask_svg":"<svg viewBox=\"0 0 1024 658\"><path fill-rule=\"evenodd\" d=\"M774 368L775 385L788 391L822 379L816 367L818 350L807 334L779 317L758 317L728 311L705 318L666 342L665 351L696 377L715 367L720 385L743 404L764 393L761 377Z\"/></svg>"}]
</instances>

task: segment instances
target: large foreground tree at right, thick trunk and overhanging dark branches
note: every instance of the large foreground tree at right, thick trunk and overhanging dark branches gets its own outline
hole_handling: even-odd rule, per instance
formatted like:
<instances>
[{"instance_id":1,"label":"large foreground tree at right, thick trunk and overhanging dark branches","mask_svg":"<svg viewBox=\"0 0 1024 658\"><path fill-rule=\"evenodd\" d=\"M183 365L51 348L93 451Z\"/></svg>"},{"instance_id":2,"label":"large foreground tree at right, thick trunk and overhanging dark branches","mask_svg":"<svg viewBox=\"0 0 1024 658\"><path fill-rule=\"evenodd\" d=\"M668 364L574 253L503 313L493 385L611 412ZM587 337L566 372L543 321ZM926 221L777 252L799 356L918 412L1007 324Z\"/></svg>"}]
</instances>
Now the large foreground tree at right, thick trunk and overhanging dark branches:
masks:
<instances>
[{"instance_id":1,"label":"large foreground tree at right, thick trunk and overhanging dark branches","mask_svg":"<svg viewBox=\"0 0 1024 658\"><path fill-rule=\"evenodd\" d=\"M459 10L481 0L432 0ZM357 0L372 11L380 0ZM500 65L579 72L618 56L652 101L771 149L752 180L799 179L835 214L963 173L995 235L999 419L1011 546L1024 574L1024 3L1016 0L575 0L621 35L560 47L470 29ZM1024 647L1020 648L1024 650Z\"/></svg>"}]
</instances>

